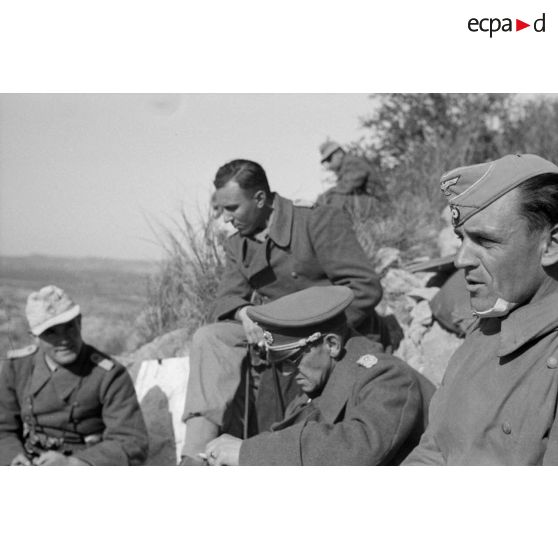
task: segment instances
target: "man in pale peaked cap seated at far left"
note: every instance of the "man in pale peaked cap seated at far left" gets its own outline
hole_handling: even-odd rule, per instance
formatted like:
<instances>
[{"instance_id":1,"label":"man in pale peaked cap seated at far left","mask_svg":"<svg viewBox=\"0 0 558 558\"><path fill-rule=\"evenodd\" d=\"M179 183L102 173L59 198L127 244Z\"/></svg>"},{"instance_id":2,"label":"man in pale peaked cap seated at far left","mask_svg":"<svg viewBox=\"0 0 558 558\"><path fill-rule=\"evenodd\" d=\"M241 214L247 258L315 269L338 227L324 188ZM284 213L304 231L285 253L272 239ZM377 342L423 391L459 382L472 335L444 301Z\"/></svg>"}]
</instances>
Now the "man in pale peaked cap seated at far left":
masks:
<instances>
[{"instance_id":1,"label":"man in pale peaked cap seated at far left","mask_svg":"<svg viewBox=\"0 0 558 558\"><path fill-rule=\"evenodd\" d=\"M27 299L37 345L0 371L0 465L139 465L147 431L126 369L86 345L80 307L47 286Z\"/></svg>"}]
</instances>

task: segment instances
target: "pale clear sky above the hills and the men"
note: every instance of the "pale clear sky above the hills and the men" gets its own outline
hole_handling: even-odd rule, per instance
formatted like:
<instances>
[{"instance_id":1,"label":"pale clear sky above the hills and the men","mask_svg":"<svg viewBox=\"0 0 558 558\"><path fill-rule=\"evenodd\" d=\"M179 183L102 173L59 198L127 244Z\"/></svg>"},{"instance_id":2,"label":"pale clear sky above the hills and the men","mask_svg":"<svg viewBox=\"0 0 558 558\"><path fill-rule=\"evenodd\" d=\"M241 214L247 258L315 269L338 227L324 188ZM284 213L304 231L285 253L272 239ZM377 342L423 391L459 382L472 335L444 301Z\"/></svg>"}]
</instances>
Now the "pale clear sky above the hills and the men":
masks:
<instances>
[{"instance_id":1,"label":"pale clear sky above the hills and the men","mask_svg":"<svg viewBox=\"0 0 558 558\"><path fill-rule=\"evenodd\" d=\"M156 259L153 226L208 206L217 168L258 161L314 199L318 146L363 135L365 94L2 94L0 254Z\"/></svg>"}]
</instances>

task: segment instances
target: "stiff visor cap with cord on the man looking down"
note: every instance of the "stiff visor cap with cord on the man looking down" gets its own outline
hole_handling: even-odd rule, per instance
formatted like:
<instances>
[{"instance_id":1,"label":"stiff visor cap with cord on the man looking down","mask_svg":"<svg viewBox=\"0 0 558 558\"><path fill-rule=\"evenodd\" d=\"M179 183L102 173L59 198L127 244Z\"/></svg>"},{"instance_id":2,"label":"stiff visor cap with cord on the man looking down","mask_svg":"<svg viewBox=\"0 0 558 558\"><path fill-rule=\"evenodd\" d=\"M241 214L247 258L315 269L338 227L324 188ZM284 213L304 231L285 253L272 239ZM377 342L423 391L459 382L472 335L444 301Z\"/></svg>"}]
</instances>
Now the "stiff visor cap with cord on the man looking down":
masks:
<instances>
[{"instance_id":1,"label":"stiff visor cap with cord on the man looking down","mask_svg":"<svg viewBox=\"0 0 558 558\"><path fill-rule=\"evenodd\" d=\"M264 330L269 358L278 362L344 324L344 310L353 298L348 287L310 287L251 306L246 313Z\"/></svg>"}]
</instances>

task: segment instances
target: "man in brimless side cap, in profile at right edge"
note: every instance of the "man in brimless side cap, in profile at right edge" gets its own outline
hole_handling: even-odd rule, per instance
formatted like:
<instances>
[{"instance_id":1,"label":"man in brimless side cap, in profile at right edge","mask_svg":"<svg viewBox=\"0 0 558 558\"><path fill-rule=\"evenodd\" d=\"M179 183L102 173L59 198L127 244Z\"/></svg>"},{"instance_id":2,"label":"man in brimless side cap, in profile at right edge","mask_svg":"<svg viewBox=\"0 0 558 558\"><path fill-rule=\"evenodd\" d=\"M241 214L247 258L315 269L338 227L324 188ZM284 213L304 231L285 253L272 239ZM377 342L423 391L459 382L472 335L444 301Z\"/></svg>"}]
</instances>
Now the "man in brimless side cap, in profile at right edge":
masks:
<instances>
[{"instance_id":1,"label":"man in brimless side cap, in profile at right edge","mask_svg":"<svg viewBox=\"0 0 558 558\"><path fill-rule=\"evenodd\" d=\"M507 155L446 173L477 321L409 465L558 464L558 167Z\"/></svg>"}]
</instances>

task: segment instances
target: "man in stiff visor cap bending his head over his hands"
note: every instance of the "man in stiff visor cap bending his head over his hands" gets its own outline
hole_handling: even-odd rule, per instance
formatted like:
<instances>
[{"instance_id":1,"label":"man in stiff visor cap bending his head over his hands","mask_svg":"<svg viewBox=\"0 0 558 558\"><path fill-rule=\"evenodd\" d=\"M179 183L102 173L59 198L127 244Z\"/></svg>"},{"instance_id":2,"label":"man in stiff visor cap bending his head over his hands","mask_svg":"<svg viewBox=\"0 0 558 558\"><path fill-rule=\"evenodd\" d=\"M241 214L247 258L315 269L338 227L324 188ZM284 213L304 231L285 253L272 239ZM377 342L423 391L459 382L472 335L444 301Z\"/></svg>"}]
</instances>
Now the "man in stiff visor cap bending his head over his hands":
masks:
<instances>
[{"instance_id":1,"label":"man in stiff visor cap bending his head over his hands","mask_svg":"<svg viewBox=\"0 0 558 558\"><path fill-rule=\"evenodd\" d=\"M228 434L205 451L210 465L396 464L418 442L433 386L379 345L351 337L347 287L310 287L248 310L264 330L274 373L302 394L270 432Z\"/></svg>"}]
</instances>

